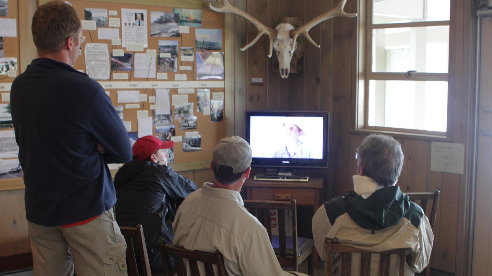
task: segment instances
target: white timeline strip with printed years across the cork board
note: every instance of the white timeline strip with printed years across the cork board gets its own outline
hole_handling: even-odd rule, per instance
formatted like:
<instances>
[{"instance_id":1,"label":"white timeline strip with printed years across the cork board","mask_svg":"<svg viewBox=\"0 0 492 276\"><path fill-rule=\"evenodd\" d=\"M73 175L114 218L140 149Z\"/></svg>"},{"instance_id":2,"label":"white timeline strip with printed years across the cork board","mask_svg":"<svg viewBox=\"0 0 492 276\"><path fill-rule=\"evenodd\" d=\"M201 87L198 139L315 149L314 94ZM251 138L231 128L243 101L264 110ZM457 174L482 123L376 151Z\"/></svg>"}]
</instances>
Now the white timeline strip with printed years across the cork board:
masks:
<instances>
[{"instance_id":1,"label":"white timeline strip with printed years across the cork board","mask_svg":"<svg viewBox=\"0 0 492 276\"><path fill-rule=\"evenodd\" d=\"M225 87L224 82L98 82L105 89ZM0 91L10 91L0 90Z\"/></svg>"}]
</instances>

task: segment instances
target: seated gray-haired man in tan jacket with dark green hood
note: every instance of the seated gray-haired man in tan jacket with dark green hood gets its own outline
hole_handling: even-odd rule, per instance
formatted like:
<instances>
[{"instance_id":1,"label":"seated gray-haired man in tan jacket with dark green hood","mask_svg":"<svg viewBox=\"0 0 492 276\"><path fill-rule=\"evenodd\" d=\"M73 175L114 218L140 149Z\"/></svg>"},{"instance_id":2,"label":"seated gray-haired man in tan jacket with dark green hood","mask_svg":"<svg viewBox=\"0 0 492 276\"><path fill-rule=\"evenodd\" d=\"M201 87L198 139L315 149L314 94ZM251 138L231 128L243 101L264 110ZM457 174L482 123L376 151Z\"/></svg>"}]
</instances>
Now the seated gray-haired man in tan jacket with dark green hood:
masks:
<instances>
[{"instance_id":1,"label":"seated gray-haired man in tan jacket with dark green hood","mask_svg":"<svg viewBox=\"0 0 492 276\"><path fill-rule=\"evenodd\" d=\"M396 185L403 166L401 145L386 135L369 135L357 149L354 190L327 201L312 219L314 245L325 260L325 239L369 251L409 248L405 276L421 272L431 257L432 234L422 208ZM360 263L360 255L352 263ZM390 275L398 275L399 259L391 257ZM370 275L379 275L379 256L371 257ZM375 265L377 263L377 265ZM341 272L341 258L334 256L334 275ZM360 275L360 267L352 268Z\"/></svg>"}]
</instances>

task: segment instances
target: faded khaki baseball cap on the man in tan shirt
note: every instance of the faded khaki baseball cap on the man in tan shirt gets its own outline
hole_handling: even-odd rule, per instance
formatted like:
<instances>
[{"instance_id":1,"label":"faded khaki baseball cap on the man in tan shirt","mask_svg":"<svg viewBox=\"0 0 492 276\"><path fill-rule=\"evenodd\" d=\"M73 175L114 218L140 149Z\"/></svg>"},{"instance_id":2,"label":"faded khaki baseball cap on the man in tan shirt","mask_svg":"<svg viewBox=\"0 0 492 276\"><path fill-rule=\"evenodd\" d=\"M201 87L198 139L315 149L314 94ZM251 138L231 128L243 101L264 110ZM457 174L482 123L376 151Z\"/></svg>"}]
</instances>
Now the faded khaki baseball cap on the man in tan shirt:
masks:
<instances>
[{"instance_id":1,"label":"faded khaki baseball cap on the man in tan shirt","mask_svg":"<svg viewBox=\"0 0 492 276\"><path fill-rule=\"evenodd\" d=\"M245 139L232 136L220 139L214 149L212 163L232 167L233 173L245 171L251 165L251 147Z\"/></svg>"}]
</instances>

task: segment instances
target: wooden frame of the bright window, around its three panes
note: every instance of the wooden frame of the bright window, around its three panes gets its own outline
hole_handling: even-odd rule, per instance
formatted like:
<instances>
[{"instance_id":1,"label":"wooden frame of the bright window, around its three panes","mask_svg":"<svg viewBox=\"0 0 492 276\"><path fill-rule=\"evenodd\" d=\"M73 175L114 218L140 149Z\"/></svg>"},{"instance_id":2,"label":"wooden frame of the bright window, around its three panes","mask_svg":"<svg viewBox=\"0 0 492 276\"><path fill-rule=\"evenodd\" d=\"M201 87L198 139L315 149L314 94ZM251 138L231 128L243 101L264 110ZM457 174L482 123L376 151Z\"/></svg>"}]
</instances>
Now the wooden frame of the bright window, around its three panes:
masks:
<instances>
[{"instance_id":1,"label":"wooden frame of the bright window, around its three panes","mask_svg":"<svg viewBox=\"0 0 492 276\"><path fill-rule=\"evenodd\" d=\"M449 21L423 21L410 23L372 23L372 0L360 1L359 6L359 72L356 96L356 129L354 133L388 133L407 137L424 137L434 140L452 140L453 138L453 105L454 105L454 74L452 68L454 60L453 53L456 53L456 35L454 25L456 20L453 18L455 13L455 1L450 1L450 20ZM448 41L448 73L427 73L412 72L410 78L406 77L406 72L372 72L372 32L374 29L382 28L413 28L413 27L432 27L449 26ZM447 100L447 124L446 132L426 131L418 129L391 128L382 126L369 126L369 81L445 81L448 83Z\"/></svg>"}]
</instances>

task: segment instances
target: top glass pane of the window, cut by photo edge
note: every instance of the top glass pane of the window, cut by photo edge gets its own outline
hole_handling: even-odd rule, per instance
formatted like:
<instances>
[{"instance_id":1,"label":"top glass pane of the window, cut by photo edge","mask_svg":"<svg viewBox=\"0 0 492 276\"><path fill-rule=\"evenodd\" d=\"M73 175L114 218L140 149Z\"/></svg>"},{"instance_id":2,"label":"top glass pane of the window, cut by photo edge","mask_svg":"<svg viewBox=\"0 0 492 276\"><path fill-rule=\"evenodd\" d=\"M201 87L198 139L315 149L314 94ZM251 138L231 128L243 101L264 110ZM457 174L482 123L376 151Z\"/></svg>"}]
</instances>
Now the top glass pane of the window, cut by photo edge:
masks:
<instances>
[{"instance_id":1,"label":"top glass pane of the window, cut by photo edge","mask_svg":"<svg viewBox=\"0 0 492 276\"><path fill-rule=\"evenodd\" d=\"M450 0L372 0L372 23L449 20Z\"/></svg>"}]
</instances>

